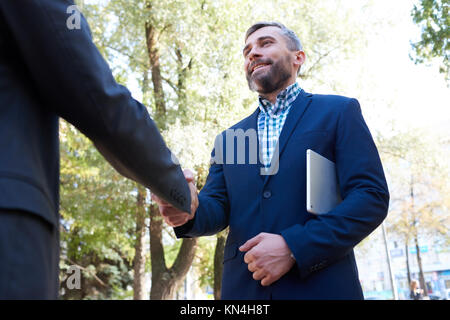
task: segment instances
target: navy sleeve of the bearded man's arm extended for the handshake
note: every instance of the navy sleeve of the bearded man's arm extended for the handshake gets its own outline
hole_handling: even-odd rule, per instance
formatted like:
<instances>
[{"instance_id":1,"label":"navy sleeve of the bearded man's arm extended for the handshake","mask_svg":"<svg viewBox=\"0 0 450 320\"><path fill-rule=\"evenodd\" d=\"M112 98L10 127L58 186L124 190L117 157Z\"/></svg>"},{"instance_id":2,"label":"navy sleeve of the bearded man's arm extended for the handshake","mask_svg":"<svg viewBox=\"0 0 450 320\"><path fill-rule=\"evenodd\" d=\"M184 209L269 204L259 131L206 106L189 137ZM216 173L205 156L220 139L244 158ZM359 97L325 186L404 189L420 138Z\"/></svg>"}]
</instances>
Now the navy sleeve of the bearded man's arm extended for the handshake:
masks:
<instances>
[{"instance_id":1,"label":"navy sleeve of the bearded man's arm extended for the handshake","mask_svg":"<svg viewBox=\"0 0 450 320\"><path fill-rule=\"evenodd\" d=\"M214 151L212 158L214 159ZM194 219L174 228L178 238L209 236L228 226L230 207L222 164L213 163L211 165L198 200L199 206Z\"/></svg>"}]
</instances>

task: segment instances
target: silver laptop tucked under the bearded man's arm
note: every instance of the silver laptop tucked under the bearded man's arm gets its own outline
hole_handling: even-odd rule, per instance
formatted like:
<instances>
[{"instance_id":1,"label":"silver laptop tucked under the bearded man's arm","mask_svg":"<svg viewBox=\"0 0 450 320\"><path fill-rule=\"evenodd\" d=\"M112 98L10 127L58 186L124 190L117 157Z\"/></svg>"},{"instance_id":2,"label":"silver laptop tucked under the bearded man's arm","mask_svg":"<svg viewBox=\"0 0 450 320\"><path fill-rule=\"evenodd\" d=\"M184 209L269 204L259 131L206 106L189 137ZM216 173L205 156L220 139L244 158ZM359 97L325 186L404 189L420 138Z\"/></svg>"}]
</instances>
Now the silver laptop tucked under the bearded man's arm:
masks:
<instances>
[{"instance_id":1,"label":"silver laptop tucked under the bearded man's arm","mask_svg":"<svg viewBox=\"0 0 450 320\"><path fill-rule=\"evenodd\" d=\"M341 201L334 162L311 149L306 150L306 210L327 213Z\"/></svg>"}]
</instances>

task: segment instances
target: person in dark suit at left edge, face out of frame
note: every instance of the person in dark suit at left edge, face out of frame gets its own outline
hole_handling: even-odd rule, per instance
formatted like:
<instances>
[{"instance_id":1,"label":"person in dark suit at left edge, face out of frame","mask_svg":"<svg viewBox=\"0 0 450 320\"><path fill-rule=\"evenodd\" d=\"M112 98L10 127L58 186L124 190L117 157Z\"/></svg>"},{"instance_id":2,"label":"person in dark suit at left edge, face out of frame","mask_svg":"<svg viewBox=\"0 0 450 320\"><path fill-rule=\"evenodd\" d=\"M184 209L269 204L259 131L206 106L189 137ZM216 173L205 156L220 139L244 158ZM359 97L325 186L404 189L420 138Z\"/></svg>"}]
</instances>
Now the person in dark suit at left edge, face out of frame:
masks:
<instances>
[{"instance_id":1,"label":"person in dark suit at left edge, face out of frame","mask_svg":"<svg viewBox=\"0 0 450 320\"><path fill-rule=\"evenodd\" d=\"M189 186L158 128L115 82L86 20L68 27L70 6L0 1L0 299L58 295L59 117L121 174L190 211Z\"/></svg>"}]
</instances>

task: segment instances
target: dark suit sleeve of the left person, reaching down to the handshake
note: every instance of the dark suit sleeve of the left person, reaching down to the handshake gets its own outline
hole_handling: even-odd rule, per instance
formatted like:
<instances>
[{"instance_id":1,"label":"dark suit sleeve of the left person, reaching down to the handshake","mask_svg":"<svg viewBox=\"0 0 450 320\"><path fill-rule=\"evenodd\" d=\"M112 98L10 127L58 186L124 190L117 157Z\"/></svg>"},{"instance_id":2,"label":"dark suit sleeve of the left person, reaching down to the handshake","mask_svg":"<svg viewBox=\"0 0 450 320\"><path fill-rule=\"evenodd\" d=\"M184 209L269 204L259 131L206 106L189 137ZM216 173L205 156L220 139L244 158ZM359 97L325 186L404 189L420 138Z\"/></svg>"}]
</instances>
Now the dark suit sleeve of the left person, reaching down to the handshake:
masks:
<instances>
[{"instance_id":1,"label":"dark suit sleeve of the left person, reaching down to the handshake","mask_svg":"<svg viewBox=\"0 0 450 320\"><path fill-rule=\"evenodd\" d=\"M79 28L69 29L72 5L67 0L0 1L0 18L42 105L90 138L119 173L190 212L181 168L146 108L116 83L85 18L80 15Z\"/></svg>"}]
</instances>

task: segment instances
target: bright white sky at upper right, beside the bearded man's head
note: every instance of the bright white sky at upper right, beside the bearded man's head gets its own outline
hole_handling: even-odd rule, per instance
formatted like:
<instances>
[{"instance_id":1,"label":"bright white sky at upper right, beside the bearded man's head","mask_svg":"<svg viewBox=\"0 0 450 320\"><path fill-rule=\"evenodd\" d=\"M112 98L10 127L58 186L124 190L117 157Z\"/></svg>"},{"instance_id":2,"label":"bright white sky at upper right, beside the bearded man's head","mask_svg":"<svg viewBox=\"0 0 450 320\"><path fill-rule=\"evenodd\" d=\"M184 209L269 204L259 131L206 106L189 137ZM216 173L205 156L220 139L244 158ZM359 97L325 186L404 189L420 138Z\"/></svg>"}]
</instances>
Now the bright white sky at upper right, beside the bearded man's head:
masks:
<instances>
[{"instance_id":1,"label":"bright white sky at upper right, beside the bearded man's head","mask_svg":"<svg viewBox=\"0 0 450 320\"><path fill-rule=\"evenodd\" d=\"M357 98L371 130L388 130L393 123L397 131L428 128L450 136L450 88L444 75L438 72L436 65L415 65L409 58L410 42L420 39L420 29L411 17L417 2L373 0L371 15L382 23L367 30L367 50L356 53L342 65L337 77L345 84L345 89L333 92L326 86L309 87L305 83L305 90ZM359 0L340 1L344 7L361 3ZM354 12L357 14L358 10ZM307 48L305 52L308 55ZM128 86L139 100L141 91L135 79L130 79Z\"/></svg>"}]
</instances>

